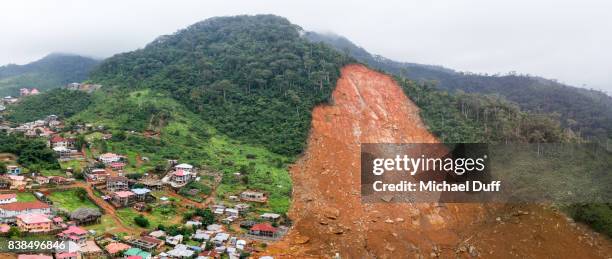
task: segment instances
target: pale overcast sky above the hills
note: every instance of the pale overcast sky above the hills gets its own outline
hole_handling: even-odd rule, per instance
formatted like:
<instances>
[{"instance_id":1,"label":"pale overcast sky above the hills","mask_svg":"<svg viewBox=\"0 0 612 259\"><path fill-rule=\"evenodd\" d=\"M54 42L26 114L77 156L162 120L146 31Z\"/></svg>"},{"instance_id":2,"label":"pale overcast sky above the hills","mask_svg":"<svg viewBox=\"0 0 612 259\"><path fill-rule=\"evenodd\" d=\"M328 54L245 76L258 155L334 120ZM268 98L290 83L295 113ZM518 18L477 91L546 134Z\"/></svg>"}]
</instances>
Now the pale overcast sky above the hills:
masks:
<instances>
[{"instance_id":1,"label":"pale overcast sky above the hills","mask_svg":"<svg viewBox=\"0 0 612 259\"><path fill-rule=\"evenodd\" d=\"M271 13L398 61L516 71L612 93L610 11L607 0L3 0L0 64L50 52L108 57L208 17Z\"/></svg>"}]
</instances>

